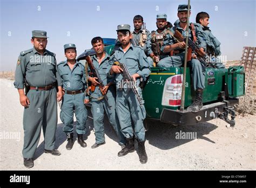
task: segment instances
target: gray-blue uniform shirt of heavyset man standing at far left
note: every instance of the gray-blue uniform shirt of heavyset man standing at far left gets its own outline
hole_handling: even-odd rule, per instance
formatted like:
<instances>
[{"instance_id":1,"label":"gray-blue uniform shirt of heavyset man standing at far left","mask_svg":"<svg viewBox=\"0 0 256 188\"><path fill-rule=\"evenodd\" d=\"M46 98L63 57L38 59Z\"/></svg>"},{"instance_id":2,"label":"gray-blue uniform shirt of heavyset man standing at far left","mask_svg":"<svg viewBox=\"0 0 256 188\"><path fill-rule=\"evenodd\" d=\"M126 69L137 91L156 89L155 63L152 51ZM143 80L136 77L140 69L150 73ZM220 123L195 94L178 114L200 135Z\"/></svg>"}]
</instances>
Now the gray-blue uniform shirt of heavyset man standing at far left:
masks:
<instances>
[{"instance_id":1,"label":"gray-blue uniform shirt of heavyset man standing at far left","mask_svg":"<svg viewBox=\"0 0 256 188\"><path fill-rule=\"evenodd\" d=\"M34 87L48 86L56 81L58 86L62 86L55 54L45 50L41 55L35 48L21 52L15 71L15 88L24 88L24 78Z\"/></svg>"}]
</instances>

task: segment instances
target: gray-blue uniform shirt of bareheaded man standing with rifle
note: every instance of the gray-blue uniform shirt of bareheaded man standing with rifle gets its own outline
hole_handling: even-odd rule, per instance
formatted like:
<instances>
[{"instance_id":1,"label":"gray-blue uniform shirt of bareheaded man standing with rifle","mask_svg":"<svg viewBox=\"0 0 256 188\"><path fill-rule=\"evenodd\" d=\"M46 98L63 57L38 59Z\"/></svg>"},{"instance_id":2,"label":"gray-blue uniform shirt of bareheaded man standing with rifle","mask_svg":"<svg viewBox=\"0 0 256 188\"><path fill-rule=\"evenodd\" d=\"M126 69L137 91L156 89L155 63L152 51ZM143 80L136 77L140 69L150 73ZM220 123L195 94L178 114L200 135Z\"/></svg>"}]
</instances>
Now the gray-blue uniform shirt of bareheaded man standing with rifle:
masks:
<instances>
[{"instance_id":1,"label":"gray-blue uniform shirt of bareheaded man standing with rifle","mask_svg":"<svg viewBox=\"0 0 256 188\"><path fill-rule=\"evenodd\" d=\"M93 67L95 69L97 69L99 72L100 79L102 79L103 85L106 86L107 83L114 82L113 78L107 77L107 72L109 70L109 67L111 67L110 62L109 62L109 60L110 60L109 54L107 54L105 52L105 57L102 60L102 62L100 62L100 64L99 64L99 61L98 61L96 55L93 55L93 57L91 59L92 59ZM88 69L89 69L88 72L90 73L91 69L89 66L88 66ZM91 77L93 77L93 76L91 76ZM94 100L93 98L99 98L100 96L102 96L102 92L100 92L100 89L98 86L95 87L95 91L93 93L91 93L91 96L92 96L92 101ZM114 96L114 89L112 86L110 86L107 91L107 97L110 98L111 96Z\"/></svg>"}]
</instances>

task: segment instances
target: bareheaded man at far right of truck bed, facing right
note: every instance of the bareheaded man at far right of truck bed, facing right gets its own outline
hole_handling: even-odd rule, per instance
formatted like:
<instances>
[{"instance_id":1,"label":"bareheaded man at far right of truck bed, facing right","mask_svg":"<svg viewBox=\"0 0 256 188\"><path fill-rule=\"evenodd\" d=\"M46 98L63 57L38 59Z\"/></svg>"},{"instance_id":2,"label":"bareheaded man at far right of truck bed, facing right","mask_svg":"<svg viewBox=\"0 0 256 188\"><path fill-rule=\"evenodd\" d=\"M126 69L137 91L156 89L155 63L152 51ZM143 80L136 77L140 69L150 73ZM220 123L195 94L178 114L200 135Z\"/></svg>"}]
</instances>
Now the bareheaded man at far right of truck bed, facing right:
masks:
<instances>
[{"instance_id":1,"label":"bareheaded man at far right of truck bed, facing right","mask_svg":"<svg viewBox=\"0 0 256 188\"><path fill-rule=\"evenodd\" d=\"M204 40L206 41L206 54L210 65L216 68L225 68L221 63L220 58L220 41L213 36L210 28L208 27L210 16L207 12L199 12L196 17L196 24L200 24L204 30ZM194 25L196 25L194 24Z\"/></svg>"}]
</instances>

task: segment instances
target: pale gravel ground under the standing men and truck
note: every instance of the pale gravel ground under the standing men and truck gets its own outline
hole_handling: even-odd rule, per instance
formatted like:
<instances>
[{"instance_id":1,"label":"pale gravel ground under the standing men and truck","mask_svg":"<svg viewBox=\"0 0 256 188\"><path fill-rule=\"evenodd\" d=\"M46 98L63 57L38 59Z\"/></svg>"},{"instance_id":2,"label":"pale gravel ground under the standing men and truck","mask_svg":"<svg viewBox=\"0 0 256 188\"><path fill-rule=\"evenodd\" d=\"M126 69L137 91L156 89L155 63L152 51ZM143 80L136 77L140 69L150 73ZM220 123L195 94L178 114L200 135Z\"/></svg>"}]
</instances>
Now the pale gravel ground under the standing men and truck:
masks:
<instances>
[{"instance_id":1,"label":"pale gravel ground under the standing men and truck","mask_svg":"<svg viewBox=\"0 0 256 188\"><path fill-rule=\"evenodd\" d=\"M23 166L23 107L13 82L0 79L0 169L30 170ZM44 154L41 134L31 170L256 170L255 122L256 116L252 115L237 116L234 128L228 128L228 124L219 119L186 127L148 121L148 162L140 164L137 143L135 152L117 156L120 146L106 118L105 145L91 149L95 135L89 118L85 136L88 146L82 148L76 142L70 151L65 149L66 137L58 119L56 147L62 155ZM179 131L197 133L197 138L176 139Z\"/></svg>"}]
</instances>

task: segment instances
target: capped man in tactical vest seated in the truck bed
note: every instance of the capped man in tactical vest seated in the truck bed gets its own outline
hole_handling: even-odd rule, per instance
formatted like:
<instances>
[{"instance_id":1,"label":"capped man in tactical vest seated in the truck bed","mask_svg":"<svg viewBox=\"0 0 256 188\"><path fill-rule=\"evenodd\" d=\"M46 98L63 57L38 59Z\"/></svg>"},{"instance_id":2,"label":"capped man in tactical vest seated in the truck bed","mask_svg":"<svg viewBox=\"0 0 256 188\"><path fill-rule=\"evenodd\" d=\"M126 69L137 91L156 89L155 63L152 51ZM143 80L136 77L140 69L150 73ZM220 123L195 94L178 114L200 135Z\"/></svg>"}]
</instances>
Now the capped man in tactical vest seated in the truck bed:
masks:
<instances>
[{"instance_id":1,"label":"capped man in tactical vest seated in the truck bed","mask_svg":"<svg viewBox=\"0 0 256 188\"><path fill-rule=\"evenodd\" d=\"M158 63L160 59L167 57L168 53L163 53L160 51L161 46L163 46L166 34L169 32L170 28L167 25L167 15L165 13L160 13L157 15L157 31L152 33L149 41L147 42L147 53L149 57L150 67L153 67L153 62Z\"/></svg>"}]
</instances>

